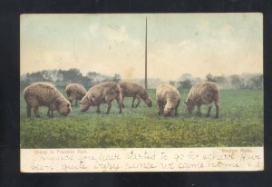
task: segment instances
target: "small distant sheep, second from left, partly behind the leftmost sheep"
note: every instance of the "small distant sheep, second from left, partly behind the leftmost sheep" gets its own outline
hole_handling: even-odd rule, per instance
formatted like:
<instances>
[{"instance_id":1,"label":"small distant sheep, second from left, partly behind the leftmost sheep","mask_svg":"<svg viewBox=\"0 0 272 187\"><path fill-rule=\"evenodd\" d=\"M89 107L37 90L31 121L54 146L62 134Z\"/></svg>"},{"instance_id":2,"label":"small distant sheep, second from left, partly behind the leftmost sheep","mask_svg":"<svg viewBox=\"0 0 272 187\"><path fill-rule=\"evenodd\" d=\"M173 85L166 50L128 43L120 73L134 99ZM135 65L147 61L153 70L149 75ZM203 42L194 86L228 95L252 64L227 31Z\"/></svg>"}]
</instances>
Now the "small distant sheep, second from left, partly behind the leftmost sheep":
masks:
<instances>
[{"instance_id":1,"label":"small distant sheep, second from left, partly behind the leftmost sheep","mask_svg":"<svg viewBox=\"0 0 272 187\"><path fill-rule=\"evenodd\" d=\"M65 92L68 95L69 102L72 106L73 100L75 100L75 105L77 105L77 101L81 101L83 96L87 93L81 84L68 84L66 86Z\"/></svg>"}]
</instances>

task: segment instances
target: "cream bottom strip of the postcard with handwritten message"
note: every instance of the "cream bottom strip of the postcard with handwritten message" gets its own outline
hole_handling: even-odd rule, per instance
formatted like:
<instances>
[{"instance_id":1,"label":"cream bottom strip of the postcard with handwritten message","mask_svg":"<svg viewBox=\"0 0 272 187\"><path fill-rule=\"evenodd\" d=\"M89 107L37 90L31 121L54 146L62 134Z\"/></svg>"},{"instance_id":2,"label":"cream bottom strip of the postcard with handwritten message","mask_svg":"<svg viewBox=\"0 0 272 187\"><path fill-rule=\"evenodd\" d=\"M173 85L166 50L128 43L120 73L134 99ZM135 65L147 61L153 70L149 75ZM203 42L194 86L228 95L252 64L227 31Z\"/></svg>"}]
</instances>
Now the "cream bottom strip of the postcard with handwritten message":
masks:
<instances>
[{"instance_id":1,"label":"cream bottom strip of the postcard with handwritten message","mask_svg":"<svg viewBox=\"0 0 272 187\"><path fill-rule=\"evenodd\" d=\"M21 149L21 172L263 170L263 147Z\"/></svg>"}]
</instances>

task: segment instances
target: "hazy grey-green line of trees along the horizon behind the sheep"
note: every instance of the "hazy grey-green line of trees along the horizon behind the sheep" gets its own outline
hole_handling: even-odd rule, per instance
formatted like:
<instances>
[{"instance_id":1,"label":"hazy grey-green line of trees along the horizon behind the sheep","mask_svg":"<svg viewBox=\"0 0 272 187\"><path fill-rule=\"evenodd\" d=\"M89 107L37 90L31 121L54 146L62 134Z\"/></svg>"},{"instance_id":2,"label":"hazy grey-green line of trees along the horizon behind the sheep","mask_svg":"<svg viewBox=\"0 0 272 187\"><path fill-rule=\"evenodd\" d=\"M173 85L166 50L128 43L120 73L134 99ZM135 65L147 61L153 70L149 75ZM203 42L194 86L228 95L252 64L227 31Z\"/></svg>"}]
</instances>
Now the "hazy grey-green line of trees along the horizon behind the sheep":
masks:
<instances>
[{"instance_id":1,"label":"hazy grey-green line of trees along the horizon behind the sheep","mask_svg":"<svg viewBox=\"0 0 272 187\"><path fill-rule=\"evenodd\" d=\"M70 83L83 84L85 87L92 87L105 81L119 82L120 74L112 76L100 74L97 72L89 72L83 75L79 69L71 68L69 70L43 70L34 73L23 74L20 77L21 86L27 86L35 82L50 82L57 86L66 86ZM137 79L135 82L143 84L144 79ZM203 79L195 77L192 74L181 74L176 81L169 83L176 86L180 90L189 90L192 85L202 81L210 81L219 84L223 89L262 89L263 74L231 74L231 75L213 75L207 74ZM156 88L159 84L165 83L160 79L150 79L149 88Z\"/></svg>"}]
</instances>

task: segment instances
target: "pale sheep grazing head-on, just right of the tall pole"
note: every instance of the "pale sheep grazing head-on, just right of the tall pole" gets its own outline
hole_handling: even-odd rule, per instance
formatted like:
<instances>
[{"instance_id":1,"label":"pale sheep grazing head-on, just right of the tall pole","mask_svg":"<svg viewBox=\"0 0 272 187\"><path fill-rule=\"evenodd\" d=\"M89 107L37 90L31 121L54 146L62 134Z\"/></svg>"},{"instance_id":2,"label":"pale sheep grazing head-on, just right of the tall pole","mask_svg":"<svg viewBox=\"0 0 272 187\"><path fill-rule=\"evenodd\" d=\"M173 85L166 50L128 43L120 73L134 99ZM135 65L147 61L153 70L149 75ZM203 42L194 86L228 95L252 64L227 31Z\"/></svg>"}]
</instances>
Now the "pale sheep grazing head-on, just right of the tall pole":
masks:
<instances>
[{"instance_id":1,"label":"pale sheep grazing head-on, just right of the tall pole","mask_svg":"<svg viewBox=\"0 0 272 187\"><path fill-rule=\"evenodd\" d=\"M178 107L180 105L180 93L174 86L170 84L161 84L156 90L157 103L159 105L159 115L169 116L172 110L178 115Z\"/></svg>"}]
</instances>

